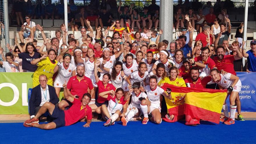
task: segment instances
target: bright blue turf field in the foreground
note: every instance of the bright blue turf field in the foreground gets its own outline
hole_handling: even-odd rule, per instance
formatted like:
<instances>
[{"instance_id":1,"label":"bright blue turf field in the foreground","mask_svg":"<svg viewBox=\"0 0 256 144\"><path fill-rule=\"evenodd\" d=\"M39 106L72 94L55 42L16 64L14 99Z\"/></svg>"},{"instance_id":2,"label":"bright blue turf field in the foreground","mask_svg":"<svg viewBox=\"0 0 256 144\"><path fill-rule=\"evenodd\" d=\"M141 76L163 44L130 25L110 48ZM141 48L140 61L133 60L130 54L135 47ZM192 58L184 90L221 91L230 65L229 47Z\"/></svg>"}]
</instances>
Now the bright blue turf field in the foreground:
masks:
<instances>
[{"instance_id":1,"label":"bright blue turf field in the foreground","mask_svg":"<svg viewBox=\"0 0 256 144\"><path fill-rule=\"evenodd\" d=\"M54 130L23 127L22 123L0 123L0 143L256 143L256 121L235 121L234 125L186 126L184 122L160 125L148 122L121 122L104 127L104 122L83 122Z\"/></svg>"}]
</instances>

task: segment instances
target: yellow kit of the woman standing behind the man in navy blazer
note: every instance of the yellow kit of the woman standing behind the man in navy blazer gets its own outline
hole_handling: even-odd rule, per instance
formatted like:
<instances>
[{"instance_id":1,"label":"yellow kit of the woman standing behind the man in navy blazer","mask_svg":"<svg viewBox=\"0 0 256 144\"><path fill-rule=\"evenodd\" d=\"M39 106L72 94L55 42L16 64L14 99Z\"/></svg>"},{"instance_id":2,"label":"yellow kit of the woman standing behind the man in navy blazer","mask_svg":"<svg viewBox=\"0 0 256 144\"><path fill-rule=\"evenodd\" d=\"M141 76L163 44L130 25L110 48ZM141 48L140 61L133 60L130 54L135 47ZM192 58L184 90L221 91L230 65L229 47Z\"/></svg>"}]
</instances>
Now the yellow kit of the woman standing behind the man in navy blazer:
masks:
<instances>
[{"instance_id":1,"label":"yellow kit of the woman standing behind the man in navy blazer","mask_svg":"<svg viewBox=\"0 0 256 144\"><path fill-rule=\"evenodd\" d=\"M48 85L53 86L52 77L54 75L54 67L57 65L58 61L54 60L55 63L51 63L49 57L47 56L46 59L40 61L37 66L38 68L35 70L33 74L33 87L38 86L39 83L39 76L41 74L45 74L48 82Z\"/></svg>"}]
</instances>

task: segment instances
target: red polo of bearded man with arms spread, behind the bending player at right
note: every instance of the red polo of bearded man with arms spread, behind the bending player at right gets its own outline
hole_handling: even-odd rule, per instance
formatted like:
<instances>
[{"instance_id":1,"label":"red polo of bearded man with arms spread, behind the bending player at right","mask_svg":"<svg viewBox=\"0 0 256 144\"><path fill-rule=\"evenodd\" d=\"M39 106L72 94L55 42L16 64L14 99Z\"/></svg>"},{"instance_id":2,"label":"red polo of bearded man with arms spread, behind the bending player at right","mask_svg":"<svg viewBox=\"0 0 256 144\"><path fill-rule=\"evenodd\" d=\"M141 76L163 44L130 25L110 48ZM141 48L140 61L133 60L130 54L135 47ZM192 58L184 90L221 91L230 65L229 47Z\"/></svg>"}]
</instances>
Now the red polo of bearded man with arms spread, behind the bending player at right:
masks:
<instances>
[{"instance_id":1,"label":"red polo of bearded man with arms spread, behind the bending player at right","mask_svg":"<svg viewBox=\"0 0 256 144\"><path fill-rule=\"evenodd\" d=\"M221 61L218 60L218 56L215 56L213 60L216 63L218 70L225 70L226 72L237 75L234 70L234 55L224 55Z\"/></svg>"}]
</instances>

